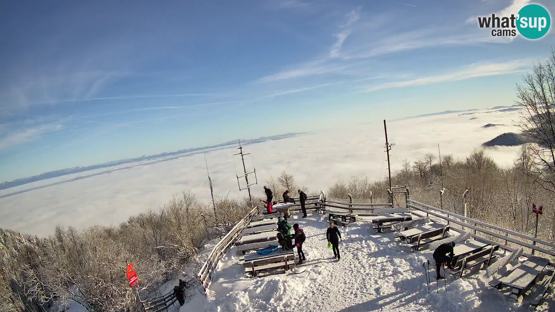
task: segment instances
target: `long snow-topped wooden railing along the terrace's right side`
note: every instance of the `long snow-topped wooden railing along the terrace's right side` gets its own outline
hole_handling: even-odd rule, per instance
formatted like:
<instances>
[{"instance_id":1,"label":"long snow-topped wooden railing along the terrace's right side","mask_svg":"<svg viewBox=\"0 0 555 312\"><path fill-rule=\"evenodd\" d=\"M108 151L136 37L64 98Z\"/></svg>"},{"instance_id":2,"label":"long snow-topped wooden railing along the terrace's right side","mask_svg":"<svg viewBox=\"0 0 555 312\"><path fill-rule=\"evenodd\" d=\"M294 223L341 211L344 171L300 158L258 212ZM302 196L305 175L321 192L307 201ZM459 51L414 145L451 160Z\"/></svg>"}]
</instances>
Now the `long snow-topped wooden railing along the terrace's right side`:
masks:
<instances>
[{"instance_id":1,"label":"long snow-topped wooden railing along the terrace's right side","mask_svg":"<svg viewBox=\"0 0 555 312\"><path fill-rule=\"evenodd\" d=\"M476 232L485 233L485 234L491 235L491 236L493 236L493 237L496 237L496 238L499 238L499 239L502 239L502 240L505 240L505 241L510 241L511 243L514 243L514 244L517 244L517 245L521 245L521 246L524 246L524 247L527 247L527 248L530 248L530 249L533 249L533 250L536 250L536 251L540 251L540 252L542 252L542 253L544 253L544 254L548 254L548 255L555 256L555 251L548 250L548 249L545 249L545 248L541 248L541 247L538 247L538 246L536 246L536 245L532 245L532 244L529 244L529 243L525 243L524 241L511 238L511 237L508 236L508 234L512 234L512 235L516 235L516 236L520 236L520 237L523 237L523 236L524 236L523 238L526 238L526 239L528 239L528 237L529 237L531 240L533 239L532 236L528 236L528 235L524 235L524 234L520 234L520 233L513 232L513 231L511 231L511 230L499 228L499 227L496 227L495 225L483 223L483 222L480 222L480 221L475 220L475 219L465 218L465 217L463 217L462 215L458 215L458 214L455 214L455 213L447 212L446 210L443 210L443 209L439 209L439 208L436 208L436 207L432 207L432 206L430 206L430 205L426 205L426 204L423 204L423 203L420 203L420 202L416 202L416 200L409 199L408 202L409 202L409 204L407 204L407 205L408 205L408 207L410 207L410 208L417 209L417 210L420 210L420 211L422 211L422 212L425 212L426 214L431 214L431 215L433 215L433 216L435 216L435 217L441 218L441 219L443 219L443 220L447 220L448 222L452 222L452 223L461 225L461 226L464 227L464 228L472 229L472 230L475 230ZM419 206L420 206L420 207L419 207ZM425 209L425 208L422 208L422 207L428 208L429 210L428 210L428 209ZM441 215L441 213L448 214L449 217L445 217L445 215ZM490 230L478 228L478 227L476 227L476 226L473 226L473 225L470 225L470 224L461 222L461 221L459 221L459 220L456 220L456 219L453 219L453 218L450 218L450 217L456 217L456 218L461 219L461 220L466 220L466 221L468 221L468 222L472 222L472 223L475 223L475 224L480 224L480 225L482 225L483 227L488 227L488 228L491 228L491 229L496 229L496 230L499 230L499 231L501 231L501 232L506 233L507 235L502 235L502 234L498 234L498 233L492 232L492 231L490 231ZM452 230L457 230L457 229L455 229L455 228L453 228L453 227L451 227L451 229L452 229ZM460 231L461 231L461 230L459 229L457 232L460 232ZM514 233L514 234L513 234L513 233ZM481 237L481 236L480 236L480 237ZM552 243L549 243L548 241L544 241L544 240L541 240L541 239L534 239L534 240L535 240L537 243L540 243L540 244L544 244L544 245L548 245L548 246L554 245L554 244L552 244ZM504 245L499 244L499 246L500 246L501 248L503 248L503 249L506 249L506 250L509 250L509 251L514 251L514 248L509 247L507 244L504 244Z\"/></svg>"}]
</instances>

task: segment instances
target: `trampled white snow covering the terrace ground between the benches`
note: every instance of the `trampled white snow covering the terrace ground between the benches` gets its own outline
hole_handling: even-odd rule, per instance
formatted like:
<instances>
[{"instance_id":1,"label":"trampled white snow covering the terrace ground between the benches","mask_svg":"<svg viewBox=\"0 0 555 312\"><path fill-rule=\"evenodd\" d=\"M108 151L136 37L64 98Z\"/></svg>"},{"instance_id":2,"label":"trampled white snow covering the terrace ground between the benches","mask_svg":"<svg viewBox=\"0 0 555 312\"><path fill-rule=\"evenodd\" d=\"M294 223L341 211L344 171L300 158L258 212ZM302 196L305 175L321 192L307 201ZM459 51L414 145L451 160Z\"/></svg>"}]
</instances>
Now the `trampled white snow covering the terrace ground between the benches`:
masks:
<instances>
[{"instance_id":1,"label":"trampled white snow covering the terrace ground between the benches","mask_svg":"<svg viewBox=\"0 0 555 312\"><path fill-rule=\"evenodd\" d=\"M485 270L467 271L461 279L450 274L447 291L443 281L436 292L430 251L413 253L397 243L392 233L376 233L371 223L340 227L341 260L327 248L327 217L317 213L295 219L305 230L306 272L296 275L265 274L250 278L239 265L235 248L220 261L208 297L188 298L181 312L189 311L527 311L507 297L508 289L488 286ZM367 220L370 220L368 218ZM296 250L295 250L296 253ZM501 253L502 255L502 253ZM422 263L430 259L433 283L428 294ZM553 291L538 311L555 311ZM549 305L549 309L548 309Z\"/></svg>"}]
</instances>

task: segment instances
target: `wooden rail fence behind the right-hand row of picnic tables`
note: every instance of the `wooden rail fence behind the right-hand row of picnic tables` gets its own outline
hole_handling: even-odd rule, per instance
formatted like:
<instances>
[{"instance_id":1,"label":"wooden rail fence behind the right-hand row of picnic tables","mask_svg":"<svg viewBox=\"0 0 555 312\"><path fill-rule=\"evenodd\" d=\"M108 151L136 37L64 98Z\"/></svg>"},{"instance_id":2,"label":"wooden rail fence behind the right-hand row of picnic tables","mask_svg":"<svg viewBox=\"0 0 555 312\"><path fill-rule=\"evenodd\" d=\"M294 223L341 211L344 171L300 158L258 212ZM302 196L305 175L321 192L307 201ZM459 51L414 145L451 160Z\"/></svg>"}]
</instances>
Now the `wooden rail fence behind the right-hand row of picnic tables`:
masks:
<instances>
[{"instance_id":1,"label":"wooden rail fence behind the right-hand row of picnic tables","mask_svg":"<svg viewBox=\"0 0 555 312\"><path fill-rule=\"evenodd\" d=\"M426 213L426 216L433 215L434 217L445 220L445 221L447 221L447 224L450 224L450 223L458 224L461 227L463 227L462 230L464 230L464 228L471 229L471 230L474 231L473 236L480 236L481 239L487 239L487 238L485 238L483 235L477 235L478 232L483 233L483 234L487 234L487 235L491 235L491 236L493 236L495 238L498 238L500 240L504 240L505 241L504 244L499 244L498 242L494 242L494 243L499 244L499 248L502 248L502 249L505 249L505 250L508 250L508 251L511 251L511 252L514 251L515 248L512 248L511 246L508 245L509 241L513 244L523 246L523 247L529 248L531 250L536 250L536 251L539 251L539 252L547 254L547 255L555 256L555 251L550 250L550 249L546 249L546 248L542 248L542 247L536 245L536 244L541 244L541 245L544 245L544 246L547 246L547 247L555 248L555 244L549 243L549 241L541 240L541 239L534 238L534 237L526 235L526 234L522 234L522 233L514 232L514 231L511 231L511 230L508 230L508 229L504 229L504 228L501 228L501 227L497 227L496 225L480 222L480 221L475 220L475 219L467 218L463 215L448 212L447 210L443 210L443 209L436 208L436 207L433 207L433 206L430 206L430 205L426 205L426 204L423 204L423 203L420 203L420 202L416 202L416 200L412 200L412 199L408 199L407 207L419 210L423 213ZM415 212L412 211L412 213L415 213ZM453 219L453 218L457 218L458 220ZM461 220L469 222L470 224L466 223L466 222L463 222ZM472 225L472 224L474 224L474 225ZM480 227L478 227L477 225L480 225ZM454 228L454 227L451 227L451 230L455 230L456 232L461 232L461 230L457 230L457 228ZM499 234L499 233L493 232L493 230L502 232L504 234ZM526 243L525 241L513 238L509 235L517 236L518 238L531 240L533 243L532 244ZM525 255L531 256L531 254L527 254L527 253L525 253Z\"/></svg>"}]
</instances>

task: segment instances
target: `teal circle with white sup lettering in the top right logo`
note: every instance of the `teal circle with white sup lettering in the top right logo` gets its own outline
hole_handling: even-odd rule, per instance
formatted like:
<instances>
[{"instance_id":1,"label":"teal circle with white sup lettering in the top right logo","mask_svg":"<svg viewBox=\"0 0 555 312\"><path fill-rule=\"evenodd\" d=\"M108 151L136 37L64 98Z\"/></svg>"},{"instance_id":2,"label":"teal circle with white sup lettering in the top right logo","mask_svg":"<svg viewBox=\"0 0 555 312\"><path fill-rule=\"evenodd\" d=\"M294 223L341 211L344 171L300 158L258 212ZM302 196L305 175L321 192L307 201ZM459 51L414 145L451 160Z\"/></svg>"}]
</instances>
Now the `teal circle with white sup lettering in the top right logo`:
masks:
<instances>
[{"instance_id":1,"label":"teal circle with white sup lettering in the top right logo","mask_svg":"<svg viewBox=\"0 0 555 312\"><path fill-rule=\"evenodd\" d=\"M539 4L528 4L518 11L518 32L528 39L543 37L551 26L549 12Z\"/></svg>"}]
</instances>

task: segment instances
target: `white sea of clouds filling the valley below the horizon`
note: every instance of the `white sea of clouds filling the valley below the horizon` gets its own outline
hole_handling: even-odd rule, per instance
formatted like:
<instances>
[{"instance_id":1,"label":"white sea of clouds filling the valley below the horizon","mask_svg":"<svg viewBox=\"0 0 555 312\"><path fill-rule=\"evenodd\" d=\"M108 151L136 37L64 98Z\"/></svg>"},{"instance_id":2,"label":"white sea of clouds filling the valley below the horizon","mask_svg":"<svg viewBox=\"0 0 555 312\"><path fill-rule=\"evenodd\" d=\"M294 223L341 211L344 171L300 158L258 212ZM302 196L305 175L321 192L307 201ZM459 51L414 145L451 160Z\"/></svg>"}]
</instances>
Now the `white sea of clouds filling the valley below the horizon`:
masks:
<instances>
[{"instance_id":1,"label":"white sea of clouds filling the valley below the horizon","mask_svg":"<svg viewBox=\"0 0 555 312\"><path fill-rule=\"evenodd\" d=\"M478 119L470 120L472 117ZM388 137L395 143L392 169L400 169L405 158L416 160L425 153L437 153L437 143L441 145L442 155L452 153L455 157L466 157L474 148L480 148L481 143L501 133L517 132L512 125L512 120L517 118L516 112L491 112L388 122ZM504 125L481 128L487 123ZM297 184L311 190L327 190L337 180L347 180L354 175L384 179L387 173L384 145L383 122L376 120L371 124L246 145L245 152L254 156L259 178L254 194L261 196L266 179L279 175L282 170L294 174ZM511 165L517 149L495 148L488 149L487 153L498 164ZM235 152L235 149L223 149L207 154L217 195L228 192L231 197L247 195L246 191L238 191L231 156ZM210 189L208 185L203 188L205 180L204 157L196 154L21 185L0 190L0 227L49 235L56 224L74 227L118 224L129 215L158 208L171 194L185 189L193 190L201 200L209 203Z\"/></svg>"}]
</instances>

